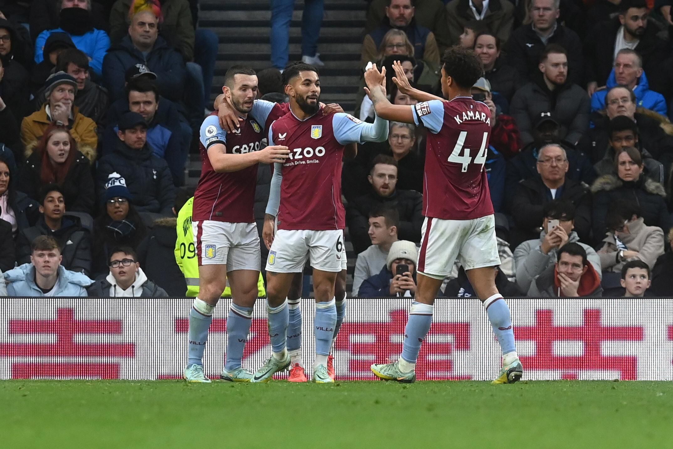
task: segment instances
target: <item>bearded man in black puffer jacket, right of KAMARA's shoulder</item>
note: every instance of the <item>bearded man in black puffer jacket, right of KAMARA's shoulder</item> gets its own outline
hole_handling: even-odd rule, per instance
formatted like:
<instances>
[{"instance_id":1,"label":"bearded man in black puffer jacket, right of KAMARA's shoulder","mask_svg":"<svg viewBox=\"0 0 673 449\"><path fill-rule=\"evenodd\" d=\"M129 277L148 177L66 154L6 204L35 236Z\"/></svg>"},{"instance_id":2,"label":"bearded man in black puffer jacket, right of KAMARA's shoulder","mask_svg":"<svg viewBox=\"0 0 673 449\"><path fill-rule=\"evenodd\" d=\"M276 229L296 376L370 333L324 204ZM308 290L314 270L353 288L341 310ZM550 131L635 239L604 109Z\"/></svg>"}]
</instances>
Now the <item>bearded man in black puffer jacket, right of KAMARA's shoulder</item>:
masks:
<instances>
[{"instance_id":1,"label":"bearded man in black puffer jacket, right of KAMARA's shoulder","mask_svg":"<svg viewBox=\"0 0 673 449\"><path fill-rule=\"evenodd\" d=\"M561 139L575 145L589 128L589 97L585 90L568 78L568 53L565 48L548 45L540 55L538 73L511 99L509 113L516 120L524 145L531 143L536 117L551 111L561 124Z\"/></svg>"}]
</instances>

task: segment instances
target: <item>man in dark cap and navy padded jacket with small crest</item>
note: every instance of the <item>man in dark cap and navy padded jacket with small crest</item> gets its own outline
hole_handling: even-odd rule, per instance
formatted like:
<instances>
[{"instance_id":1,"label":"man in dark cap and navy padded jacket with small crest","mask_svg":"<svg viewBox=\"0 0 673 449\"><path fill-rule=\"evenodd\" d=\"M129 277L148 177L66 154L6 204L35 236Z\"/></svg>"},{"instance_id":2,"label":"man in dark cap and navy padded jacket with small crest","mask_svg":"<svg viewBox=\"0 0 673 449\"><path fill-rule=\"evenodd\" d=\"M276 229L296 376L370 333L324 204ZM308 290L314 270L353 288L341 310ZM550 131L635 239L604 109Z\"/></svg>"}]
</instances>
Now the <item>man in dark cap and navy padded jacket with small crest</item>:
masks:
<instances>
[{"instance_id":1,"label":"man in dark cap and navy padded jacket with small crest","mask_svg":"<svg viewBox=\"0 0 673 449\"><path fill-rule=\"evenodd\" d=\"M118 173L127 181L127 188L139 212L173 215L175 186L166 160L155 156L147 146L147 123L137 112L120 118L118 142L114 151L98 162L96 173L100 187L100 203L107 195L104 185L108 176Z\"/></svg>"}]
</instances>

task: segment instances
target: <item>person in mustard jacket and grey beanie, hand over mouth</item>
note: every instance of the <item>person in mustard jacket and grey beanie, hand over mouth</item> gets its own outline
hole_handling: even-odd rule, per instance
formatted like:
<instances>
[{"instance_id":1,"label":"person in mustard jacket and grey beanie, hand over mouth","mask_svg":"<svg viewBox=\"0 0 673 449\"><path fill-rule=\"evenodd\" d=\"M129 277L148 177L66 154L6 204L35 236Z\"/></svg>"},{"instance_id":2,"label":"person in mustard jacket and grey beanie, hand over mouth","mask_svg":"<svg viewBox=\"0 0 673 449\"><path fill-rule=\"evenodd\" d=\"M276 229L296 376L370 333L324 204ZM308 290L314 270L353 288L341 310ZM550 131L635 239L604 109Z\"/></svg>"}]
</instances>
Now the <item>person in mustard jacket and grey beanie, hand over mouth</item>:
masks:
<instances>
[{"instance_id":1,"label":"person in mustard jacket and grey beanie, hand over mouth","mask_svg":"<svg viewBox=\"0 0 673 449\"><path fill-rule=\"evenodd\" d=\"M28 151L37 145L44 131L52 124L68 127L77 148L92 163L96 160L98 133L96 122L79 112L75 106L77 80L63 71L53 73L44 83L42 108L21 123L21 140Z\"/></svg>"}]
</instances>

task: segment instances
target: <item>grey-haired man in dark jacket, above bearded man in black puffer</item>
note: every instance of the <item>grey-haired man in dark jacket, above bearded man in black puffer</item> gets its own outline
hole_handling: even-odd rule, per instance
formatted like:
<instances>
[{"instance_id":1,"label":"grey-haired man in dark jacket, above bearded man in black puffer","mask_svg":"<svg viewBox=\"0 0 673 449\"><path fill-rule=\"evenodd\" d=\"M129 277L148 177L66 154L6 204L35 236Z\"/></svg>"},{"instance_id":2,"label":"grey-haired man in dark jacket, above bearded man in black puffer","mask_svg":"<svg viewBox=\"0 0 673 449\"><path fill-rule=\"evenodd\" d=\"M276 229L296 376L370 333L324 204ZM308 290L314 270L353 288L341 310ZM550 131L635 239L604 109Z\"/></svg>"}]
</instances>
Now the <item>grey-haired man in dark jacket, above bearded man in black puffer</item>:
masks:
<instances>
[{"instance_id":1,"label":"grey-haired man in dark jacket, above bearded man in black puffer","mask_svg":"<svg viewBox=\"0 0 673 449\"><path fill-rule=\"evenodd\" d=\"M559 5L559 0L532 0L532 24L514 30L507 41L507 61L522 79L533 77L546 46L556 44L565 49L570 81L577 84L583 81L582 44L577 33L557 22Z\"/></svg>"}]
</instances>

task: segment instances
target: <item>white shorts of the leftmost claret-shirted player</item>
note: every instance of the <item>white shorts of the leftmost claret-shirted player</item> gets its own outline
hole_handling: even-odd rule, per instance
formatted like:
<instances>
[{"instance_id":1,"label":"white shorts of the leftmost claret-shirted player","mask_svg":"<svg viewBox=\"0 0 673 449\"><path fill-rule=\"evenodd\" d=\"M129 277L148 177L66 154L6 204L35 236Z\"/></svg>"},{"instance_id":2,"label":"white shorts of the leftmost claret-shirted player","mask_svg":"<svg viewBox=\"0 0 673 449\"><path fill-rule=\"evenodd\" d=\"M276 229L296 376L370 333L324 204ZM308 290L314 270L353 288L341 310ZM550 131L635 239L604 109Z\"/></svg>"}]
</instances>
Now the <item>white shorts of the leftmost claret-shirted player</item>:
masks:
<instances>
[{"instance_id":1,"label":"white shorts of the leftmost claret-shirted player","mask_svg":"<svg viewBox=\"0 0 673 449\"><path fill-rule=\"evenodd\" d=\"M192 221L199 265L227 265L227 272L256 270L262 265L255 223Z\"/></svg>"}]
</instances>

